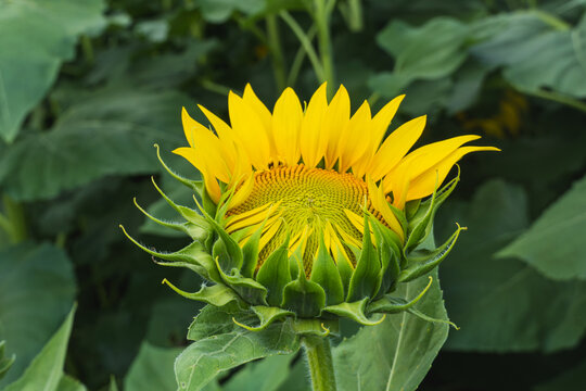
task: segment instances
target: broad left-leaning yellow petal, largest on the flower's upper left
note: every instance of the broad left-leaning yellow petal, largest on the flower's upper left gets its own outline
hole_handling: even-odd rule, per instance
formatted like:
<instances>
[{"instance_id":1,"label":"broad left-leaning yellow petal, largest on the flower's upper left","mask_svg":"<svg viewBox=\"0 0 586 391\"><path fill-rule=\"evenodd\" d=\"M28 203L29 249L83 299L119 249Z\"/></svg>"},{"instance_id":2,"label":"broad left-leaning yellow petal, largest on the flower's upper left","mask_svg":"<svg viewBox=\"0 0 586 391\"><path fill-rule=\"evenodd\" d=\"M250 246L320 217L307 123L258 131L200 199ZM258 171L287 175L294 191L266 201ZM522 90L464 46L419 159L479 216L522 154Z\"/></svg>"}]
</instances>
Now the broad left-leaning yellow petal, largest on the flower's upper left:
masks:
<instances>
[{"instance_id":1,"label":"broad left-leaning yellow petal, largest on the flower's upper left","mask_svg":"<svg viewBox=\"0 0 586 391\"><path fill-rule=\"evenodd\" d=\"M270 163L270 146L263 122L256 112L232 91L228 94L228 108L237 143L246 151L257 169L267 168Z\"/></svg>"}]
</instances>

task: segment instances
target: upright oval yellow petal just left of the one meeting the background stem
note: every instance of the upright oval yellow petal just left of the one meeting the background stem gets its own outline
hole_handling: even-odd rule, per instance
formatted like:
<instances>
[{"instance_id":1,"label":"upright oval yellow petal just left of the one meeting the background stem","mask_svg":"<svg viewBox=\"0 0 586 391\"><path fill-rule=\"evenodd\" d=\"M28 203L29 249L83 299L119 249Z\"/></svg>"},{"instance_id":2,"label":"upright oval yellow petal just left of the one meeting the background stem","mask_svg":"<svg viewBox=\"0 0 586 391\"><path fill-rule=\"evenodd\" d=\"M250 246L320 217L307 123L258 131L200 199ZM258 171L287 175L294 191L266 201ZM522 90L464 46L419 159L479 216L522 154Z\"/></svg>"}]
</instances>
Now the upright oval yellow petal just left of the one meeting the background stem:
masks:
<instances>
[{"instance_id":1,"label":"upright oval yellow petal just left of the one meeting the background stem","mask_svg":"<svg viewBox=\"0 0 586 391\"><path fill-rule=\"evenodd\" d=\"M277 155L289 166L300 161L300 129L303 109L292 88L286 88L275 103L272 131Z\"/></svg>"}]
</instances>

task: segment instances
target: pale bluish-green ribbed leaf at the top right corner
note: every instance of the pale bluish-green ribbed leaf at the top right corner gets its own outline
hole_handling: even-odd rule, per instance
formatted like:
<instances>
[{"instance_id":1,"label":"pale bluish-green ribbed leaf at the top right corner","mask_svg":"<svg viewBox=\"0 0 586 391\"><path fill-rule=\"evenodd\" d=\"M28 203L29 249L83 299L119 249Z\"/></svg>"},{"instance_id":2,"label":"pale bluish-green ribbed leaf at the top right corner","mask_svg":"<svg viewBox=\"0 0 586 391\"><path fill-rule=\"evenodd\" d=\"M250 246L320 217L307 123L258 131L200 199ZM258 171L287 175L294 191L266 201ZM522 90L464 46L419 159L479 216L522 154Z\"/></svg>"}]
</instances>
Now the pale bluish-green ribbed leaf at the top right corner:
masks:
<instances>
[{"instance_id":1,"label":"pale bluish-green ribbed leaf at the top right corner","mask_svg":"<svg viewBox=\"0 0 586 391\"><path fill-rule=\"evenodd\" d=\"M485 64L504 66L520 90L542 88L586 97L586 17L574 27L540 11L506 13L481 20L471 49Z\"/></svg>"}]
</instances>

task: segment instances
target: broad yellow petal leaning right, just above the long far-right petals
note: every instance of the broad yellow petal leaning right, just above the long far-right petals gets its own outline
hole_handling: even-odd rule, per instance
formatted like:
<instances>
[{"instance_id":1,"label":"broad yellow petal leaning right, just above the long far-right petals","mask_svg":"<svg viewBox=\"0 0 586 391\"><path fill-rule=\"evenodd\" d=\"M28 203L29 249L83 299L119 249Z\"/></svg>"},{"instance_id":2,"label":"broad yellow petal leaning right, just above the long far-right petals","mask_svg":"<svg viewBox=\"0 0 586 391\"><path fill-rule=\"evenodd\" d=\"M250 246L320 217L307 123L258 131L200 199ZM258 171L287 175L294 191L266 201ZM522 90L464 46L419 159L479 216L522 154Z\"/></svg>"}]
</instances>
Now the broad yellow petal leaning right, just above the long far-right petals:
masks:
<instances>
[{"instance_id":1,"label":"broad yellow petal leaning right, just above the long far-right petals","mask_svg":"<svg viewBox=\"0 0 586 391\"><path fill-rule=\"evenodd\" d=\"M369 175L374 181L388 174L405 156L425 127L425 115L409 121L393 131L372 157Z\"/></svg>"}]
</instances>

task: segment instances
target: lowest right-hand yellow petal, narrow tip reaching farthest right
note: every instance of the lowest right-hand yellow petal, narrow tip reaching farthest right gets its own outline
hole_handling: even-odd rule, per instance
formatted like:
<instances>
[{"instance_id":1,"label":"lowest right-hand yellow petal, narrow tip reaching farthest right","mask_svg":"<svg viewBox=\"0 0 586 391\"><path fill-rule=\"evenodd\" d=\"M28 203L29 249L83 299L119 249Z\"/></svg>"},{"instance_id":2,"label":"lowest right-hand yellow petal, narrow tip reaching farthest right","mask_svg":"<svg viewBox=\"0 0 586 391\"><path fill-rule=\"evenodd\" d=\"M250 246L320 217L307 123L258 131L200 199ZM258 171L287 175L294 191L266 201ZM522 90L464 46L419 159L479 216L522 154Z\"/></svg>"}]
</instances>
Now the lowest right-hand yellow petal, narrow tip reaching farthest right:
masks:
<instances>
[{"instance_id":1,"label":"lowest right-hand yellow petal, narrow tip reaching farthest right","mask_svg":"<svg viewBox=\"0 0 586 391\"><path fill-rule=\"evenodd\" d=\"M498 148L494 147L461 147L456 151L451 152L447 157L442 160L440 163L429 168L423 174L419 175L417 178L412 179L409 185L409 191L407 192L407 201L422 199L423 197L431 195L437 187L446 179L449 171L454 165L462 159L466 154L470 152L477 151L499 151Z\"/></svg>"}]
</instances>

